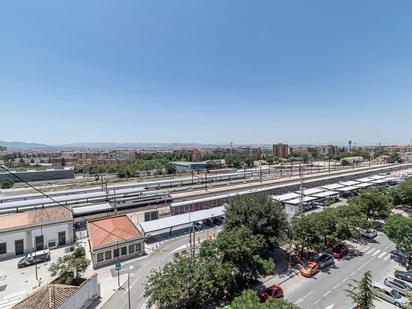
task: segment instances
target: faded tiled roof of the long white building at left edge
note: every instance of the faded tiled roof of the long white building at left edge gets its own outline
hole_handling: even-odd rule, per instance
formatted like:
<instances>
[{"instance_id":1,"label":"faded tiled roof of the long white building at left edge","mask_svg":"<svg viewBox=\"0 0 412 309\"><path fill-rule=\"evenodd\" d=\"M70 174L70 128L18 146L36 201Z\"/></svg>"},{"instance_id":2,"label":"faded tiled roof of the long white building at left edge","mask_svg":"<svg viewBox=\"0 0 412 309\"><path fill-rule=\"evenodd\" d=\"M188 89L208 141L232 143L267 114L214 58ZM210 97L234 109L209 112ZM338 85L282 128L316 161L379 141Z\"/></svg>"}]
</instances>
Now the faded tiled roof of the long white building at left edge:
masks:
<instances>
[{"instance_id":1,"label":"faded tiled roof of the long white building at left edge","mask_svg":"<svg viewBox=\"0 0 412 309\"><path fill-rule=\"evenodd\" d=\"M62 206L33 209L20 213L1 215L0 231L4 229L17 229L27 225L48 224L70 220L73 220L71 211Z\"/></svg>"}]
</instances>

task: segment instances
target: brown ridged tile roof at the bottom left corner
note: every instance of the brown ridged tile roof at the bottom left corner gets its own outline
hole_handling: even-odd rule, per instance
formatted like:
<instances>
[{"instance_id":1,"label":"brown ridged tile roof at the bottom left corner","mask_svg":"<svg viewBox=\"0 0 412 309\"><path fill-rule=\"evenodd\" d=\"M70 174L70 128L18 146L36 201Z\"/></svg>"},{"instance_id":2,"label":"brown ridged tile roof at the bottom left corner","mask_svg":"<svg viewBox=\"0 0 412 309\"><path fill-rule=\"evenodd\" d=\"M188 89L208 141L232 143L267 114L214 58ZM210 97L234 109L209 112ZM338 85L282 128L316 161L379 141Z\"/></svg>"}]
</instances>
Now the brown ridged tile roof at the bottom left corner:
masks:
<instances>
[{"instance_id":1,"label":"brown ridged tile roof at the bottom left corner","mask_svg":"<svg viewBox=\"0 0 412 309\"><path fill-rule=\"evenodd\" d=\"M38 288L21 302L15 304L13 309L50 309L59 308L80 288L73 285L48 284Z\"/></svg>"}]
</instances>

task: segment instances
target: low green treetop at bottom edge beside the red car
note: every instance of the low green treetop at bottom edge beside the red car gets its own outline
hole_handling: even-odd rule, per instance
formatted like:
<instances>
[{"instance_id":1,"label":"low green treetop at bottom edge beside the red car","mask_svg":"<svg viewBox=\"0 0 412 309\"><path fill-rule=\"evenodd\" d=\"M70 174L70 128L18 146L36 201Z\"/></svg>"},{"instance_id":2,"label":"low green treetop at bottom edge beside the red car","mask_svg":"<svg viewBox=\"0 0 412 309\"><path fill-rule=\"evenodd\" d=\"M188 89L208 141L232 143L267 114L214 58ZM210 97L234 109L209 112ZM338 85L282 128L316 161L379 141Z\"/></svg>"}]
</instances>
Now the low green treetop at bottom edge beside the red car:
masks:
<instances>
[{"instance_id":1,"label":"low green treetop at bottom edge beside the red car","mask_svg":"<svg viewBox=\"0 0 412 309\"><path fill-rule=\"evenodd\" d=\"M233 299L230 309L299 309L298 306L284 299L268 299L262 303L254 290L244 290L242 294Z\"/></svg>"}]
</instances>

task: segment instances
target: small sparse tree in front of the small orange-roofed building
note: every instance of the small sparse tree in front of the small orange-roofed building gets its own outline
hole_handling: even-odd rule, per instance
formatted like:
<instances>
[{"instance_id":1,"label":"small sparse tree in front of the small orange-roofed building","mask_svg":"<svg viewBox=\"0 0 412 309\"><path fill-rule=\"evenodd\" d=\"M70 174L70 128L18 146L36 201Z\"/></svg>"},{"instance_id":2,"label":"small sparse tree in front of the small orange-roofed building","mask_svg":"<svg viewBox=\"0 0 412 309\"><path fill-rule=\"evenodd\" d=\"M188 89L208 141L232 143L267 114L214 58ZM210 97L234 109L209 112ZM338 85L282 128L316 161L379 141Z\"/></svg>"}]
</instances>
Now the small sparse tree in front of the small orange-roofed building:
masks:
<instances>
[{"instance_id":1,"label":"small sparse tree in front of the small orange-roofed building","mask_svg":"<svg viewBox=\"0 0 412 309\"><path fill-rule=\"evenodd\" d=\"M64 279L66 284L71 284L81 278L89 267L90 260L86 258L84 247L72 245L67 247L64 253L64 256L50 265L49 272L52 276L58 275Z\"/></svg>"}]
</instances>

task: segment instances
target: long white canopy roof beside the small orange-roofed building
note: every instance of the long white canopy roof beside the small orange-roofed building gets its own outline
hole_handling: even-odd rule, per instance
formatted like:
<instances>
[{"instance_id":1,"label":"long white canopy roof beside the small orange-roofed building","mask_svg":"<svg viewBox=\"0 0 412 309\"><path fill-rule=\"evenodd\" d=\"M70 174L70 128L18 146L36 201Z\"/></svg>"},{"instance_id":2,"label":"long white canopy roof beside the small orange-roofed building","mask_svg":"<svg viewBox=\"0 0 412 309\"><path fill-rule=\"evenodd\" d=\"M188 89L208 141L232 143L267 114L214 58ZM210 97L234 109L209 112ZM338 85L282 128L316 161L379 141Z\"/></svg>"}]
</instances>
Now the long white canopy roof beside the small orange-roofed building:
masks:
<instances>
[{"instance_id":1,"label":"long white canopy roof beside the small orange-roofed building","mask_svg":"<svg viewBox=\"0 0 412 309\"><path fill-rule=\"evenodd\" d=\"M220 206L199 211L192 211L181 215L165 217L153 221L141 222L140 227L145 234L156 235L168 232L170 228L179 229L188 227L193 222L213 217L219 217L224 215L224 213L225 207Z\"/></svg>"}]
</instances>

